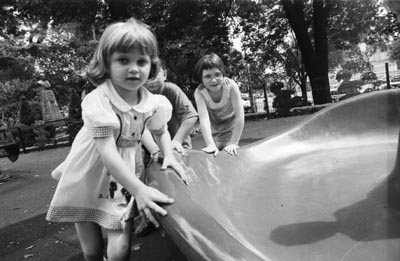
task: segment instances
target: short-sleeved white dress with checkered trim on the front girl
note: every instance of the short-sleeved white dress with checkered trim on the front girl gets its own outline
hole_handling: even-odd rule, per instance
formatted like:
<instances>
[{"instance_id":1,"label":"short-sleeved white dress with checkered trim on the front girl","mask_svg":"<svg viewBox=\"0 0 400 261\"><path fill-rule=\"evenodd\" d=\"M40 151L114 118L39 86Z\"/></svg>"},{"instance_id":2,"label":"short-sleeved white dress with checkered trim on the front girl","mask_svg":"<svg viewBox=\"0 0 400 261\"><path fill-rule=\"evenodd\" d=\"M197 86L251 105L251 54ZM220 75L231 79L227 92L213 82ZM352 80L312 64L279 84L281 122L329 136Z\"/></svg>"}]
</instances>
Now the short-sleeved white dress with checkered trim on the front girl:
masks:
<instances>
[{"instance_id":1,"label":"short-sleeved white dress with checkered trim on the front girl","mask_svg":"<svg viewBox=\"0 0 400 261\"><path fill-rule=\"evenodd\" d=\"M140 103L128 105L106 81L82 102L84 125L71 150L53 172L59 179L46 219L54 222L95 222L107 229L121 229L133 216L133 198L108 173L94 139L114 136L121 157L139 178L143 172L141 134L167 131L172 106L162 95L140 90Z\"/></svg>"}]
</instances>

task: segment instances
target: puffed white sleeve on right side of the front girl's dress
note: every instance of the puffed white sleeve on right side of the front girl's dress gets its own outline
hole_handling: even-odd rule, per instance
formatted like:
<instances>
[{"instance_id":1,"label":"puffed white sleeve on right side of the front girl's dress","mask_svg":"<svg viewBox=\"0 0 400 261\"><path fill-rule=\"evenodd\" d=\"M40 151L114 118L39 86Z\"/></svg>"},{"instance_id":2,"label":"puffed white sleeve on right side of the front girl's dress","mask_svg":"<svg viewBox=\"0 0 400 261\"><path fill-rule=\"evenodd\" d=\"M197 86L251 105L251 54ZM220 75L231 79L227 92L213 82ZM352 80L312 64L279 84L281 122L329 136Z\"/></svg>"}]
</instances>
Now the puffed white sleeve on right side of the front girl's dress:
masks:
<instances>
[{"instance_id":1,"label":"puffed white sleeve on right side of the front girl's dress","mask_svg":"<svg viewBox=\"0 0 400 261\"><path fill-rule=\"evenodd\" d=\"M157 107L147 123L148 129L155 135L161 135L168 130L167 123L172 116L172 105L163 95L154 95Z\"/></svg>"}]
</instances>

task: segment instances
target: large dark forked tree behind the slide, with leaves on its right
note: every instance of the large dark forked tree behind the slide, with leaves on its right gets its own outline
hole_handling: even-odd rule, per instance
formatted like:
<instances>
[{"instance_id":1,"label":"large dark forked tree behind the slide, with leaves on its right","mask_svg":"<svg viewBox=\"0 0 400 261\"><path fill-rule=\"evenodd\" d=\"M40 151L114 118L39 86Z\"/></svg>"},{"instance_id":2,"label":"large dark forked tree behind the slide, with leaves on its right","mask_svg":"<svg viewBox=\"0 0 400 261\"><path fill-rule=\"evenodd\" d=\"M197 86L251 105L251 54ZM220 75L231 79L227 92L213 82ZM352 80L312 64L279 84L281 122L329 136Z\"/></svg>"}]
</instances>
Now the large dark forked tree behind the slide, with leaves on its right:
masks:
<instances>
[{"instance_id":1,"label":"large dark forked tree behind the slide, with leaves on its right","mask_svg":"<svg viewBox=\"0 0 400 261\"><path fill-rule=\"evenodd\" d=\"M281 0L281 3L302 52L314 103L330 102L329 49L346 49L360 43L364 35L366 41L376 41L372 36L381 28L378 1L313 0L311 7L304 0ZM306 19L307 8L312 10L312 21Z\"/></svg>"}]
</instances>

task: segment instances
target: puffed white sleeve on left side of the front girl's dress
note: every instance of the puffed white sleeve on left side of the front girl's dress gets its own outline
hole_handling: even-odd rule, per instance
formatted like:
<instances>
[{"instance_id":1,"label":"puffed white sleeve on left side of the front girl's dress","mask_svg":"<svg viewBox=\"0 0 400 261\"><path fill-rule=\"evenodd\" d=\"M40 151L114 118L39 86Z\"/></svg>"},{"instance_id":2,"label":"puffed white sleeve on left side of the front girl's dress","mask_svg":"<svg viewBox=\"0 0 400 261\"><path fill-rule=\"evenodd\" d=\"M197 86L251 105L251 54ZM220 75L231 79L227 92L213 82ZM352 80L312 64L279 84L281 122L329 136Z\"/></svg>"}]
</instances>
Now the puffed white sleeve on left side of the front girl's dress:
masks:
<instances>
[{"instance_id":1,"label":"puffed white sleeve on left side of the front girl's dress","mask_svg":"<svg viewBox=\"0 0 400 261\"><path fill-rule=\"evenodd\" d=\"M83 100L82 119L89 135L95 138L112 136L120 125L107 96L97 89Z\"/></svg>"}]
</instances>

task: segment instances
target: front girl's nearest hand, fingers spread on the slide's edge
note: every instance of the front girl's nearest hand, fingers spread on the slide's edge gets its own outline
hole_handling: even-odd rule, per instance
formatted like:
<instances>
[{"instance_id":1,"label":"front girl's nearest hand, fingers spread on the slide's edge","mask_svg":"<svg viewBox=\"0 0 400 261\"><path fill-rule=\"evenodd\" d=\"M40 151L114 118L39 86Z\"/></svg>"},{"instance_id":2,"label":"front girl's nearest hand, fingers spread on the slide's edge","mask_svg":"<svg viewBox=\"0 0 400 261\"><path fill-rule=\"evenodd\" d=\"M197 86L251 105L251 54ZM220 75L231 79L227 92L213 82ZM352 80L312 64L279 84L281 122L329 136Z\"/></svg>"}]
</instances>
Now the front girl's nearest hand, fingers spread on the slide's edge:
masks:
<instances>
[{"instance_id":1,"label":"front girl's nearest hand, fingers spread on the slide's edge","mask_svg":"<svg viewBox=\"0 0 400 261\"><path fill-rule=\"evenodd\" d=\"M161 204L172 204L174 200L159 190L149 187L142 186L137 194L135 195L135 200L138 206L140 215L149 220L154 226L159 227L159 223L154 214L161 216L167 215L167 211L160 207L157 203Z\"/></svg>"}]
</instances>

